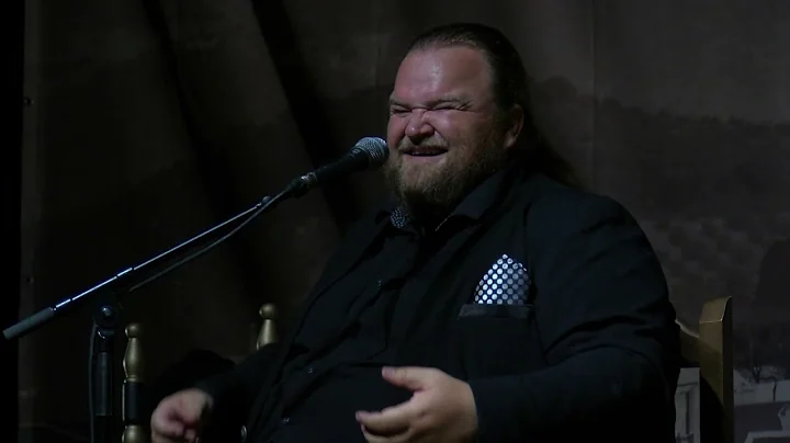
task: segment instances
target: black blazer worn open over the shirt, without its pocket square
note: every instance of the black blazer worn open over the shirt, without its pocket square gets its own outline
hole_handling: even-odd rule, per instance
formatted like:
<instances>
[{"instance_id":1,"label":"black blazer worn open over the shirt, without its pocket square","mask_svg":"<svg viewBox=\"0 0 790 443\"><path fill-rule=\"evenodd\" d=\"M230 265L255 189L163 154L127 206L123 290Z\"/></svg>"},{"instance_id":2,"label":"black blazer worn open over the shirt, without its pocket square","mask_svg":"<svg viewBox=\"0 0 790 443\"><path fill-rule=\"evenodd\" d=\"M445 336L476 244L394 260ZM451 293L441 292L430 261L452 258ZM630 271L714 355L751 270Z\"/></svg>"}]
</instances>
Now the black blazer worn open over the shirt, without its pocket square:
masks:
<instances>
[{"instance_id":1,"label":"black blazer worn open over the shirt, without its pocket square","mask_svg":"<svg viewBox=\"0 0 790 443\"><path fill-rule=\"evenodd\" d=\"M611 198L540 174L508 183L432 282L399 359L470 384L479 442L674 441L679 338L644 232ZM390 223L372 219L350 230L305 313L353 272ZM528 300L474 303L481 276L503 255L527 270ZM225 419L245 423L242 433L258 435L272 425L271 389L292 339L200 385L217 405L233 406L222 408Z\"/></svg>"}]
</instances>

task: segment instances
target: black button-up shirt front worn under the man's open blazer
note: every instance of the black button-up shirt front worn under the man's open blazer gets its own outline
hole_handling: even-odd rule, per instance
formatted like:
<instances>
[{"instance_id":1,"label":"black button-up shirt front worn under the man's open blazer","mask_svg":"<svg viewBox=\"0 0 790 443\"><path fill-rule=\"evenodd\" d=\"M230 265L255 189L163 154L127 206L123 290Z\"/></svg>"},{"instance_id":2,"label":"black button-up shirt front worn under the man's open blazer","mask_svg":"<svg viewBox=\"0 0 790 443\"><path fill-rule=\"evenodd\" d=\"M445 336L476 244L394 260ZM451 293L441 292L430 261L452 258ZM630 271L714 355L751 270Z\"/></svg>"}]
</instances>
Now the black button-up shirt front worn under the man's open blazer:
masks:
<instances>
[{"instance_id":1,"label":"black button-up shirt front worn under the man's open blazer","mask_svg":"<svg viewBox=\"0 0 790 443\"><path fill-rule=\"evenodd\" d=\"M316 300L294 339L280 384L286 420L269 441L359 440L354 412L408 400L410 393L386 383L381 367L400 363L405 326L460 247L448 240L469 234L512 173L485 182L431 232L420 234L400 207L376 214L379 222L388 217L384 230L354 272Z\"/></svg>"}]
</instances>

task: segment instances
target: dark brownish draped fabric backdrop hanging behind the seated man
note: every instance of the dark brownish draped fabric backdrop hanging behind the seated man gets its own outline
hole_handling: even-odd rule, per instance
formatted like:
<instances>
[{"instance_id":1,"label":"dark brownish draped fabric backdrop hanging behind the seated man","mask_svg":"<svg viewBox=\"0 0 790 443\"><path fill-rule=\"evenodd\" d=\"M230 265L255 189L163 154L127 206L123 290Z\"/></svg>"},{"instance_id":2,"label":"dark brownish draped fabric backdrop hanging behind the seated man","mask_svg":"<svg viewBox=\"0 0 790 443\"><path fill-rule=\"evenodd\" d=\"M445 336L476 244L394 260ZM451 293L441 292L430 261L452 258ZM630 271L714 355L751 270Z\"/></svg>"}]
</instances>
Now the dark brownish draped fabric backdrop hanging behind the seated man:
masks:
<instances>
[{"instance_id":1,"label":"dark brownish draped fabric backdrop hanging behind the seated man","mask_svg":"<svg viewBox=\"0 0 790 443\"><path fill-rule=\"evenodd\" d=\"M479 21L523 55L549 138L639 218L679 317L693 323L706 299L733 296L736 441L790 430L790 2L25 5L21 315L383 135L407 42ZM349 222L384 193L376 173L316 190L125 298L148 377L195 348L247 354L258 307L293 314ZM23 435L87 434L90 326L86 308L20 341ZM693 441L693 382L681 384L678 441Z\"/></svg>"}]
</instances>

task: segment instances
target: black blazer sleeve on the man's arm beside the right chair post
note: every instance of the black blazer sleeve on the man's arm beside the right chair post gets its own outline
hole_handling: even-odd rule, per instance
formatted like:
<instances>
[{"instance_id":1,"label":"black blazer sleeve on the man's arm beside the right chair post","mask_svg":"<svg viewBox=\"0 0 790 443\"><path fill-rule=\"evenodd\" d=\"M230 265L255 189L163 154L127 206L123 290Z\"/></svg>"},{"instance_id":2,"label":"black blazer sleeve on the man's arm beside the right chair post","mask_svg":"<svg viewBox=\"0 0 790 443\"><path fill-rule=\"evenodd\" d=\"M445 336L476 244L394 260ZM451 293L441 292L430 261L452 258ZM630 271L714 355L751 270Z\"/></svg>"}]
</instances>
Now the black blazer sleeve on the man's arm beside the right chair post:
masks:
<instances>
[{"instance_id":1,"label":"black blazer sleeve on the man's arm beside the right chair post","mask_svg":"<svg viewBox=\"0 0 790 443\"><path fill-rule=\"evenodd\" d=\"M663 270L622 206L578 200L530 209L534 321L548 365L470 380L479 442L637 429L631 439L674 441L679 338Z\"/></svg>"}]
</instances>

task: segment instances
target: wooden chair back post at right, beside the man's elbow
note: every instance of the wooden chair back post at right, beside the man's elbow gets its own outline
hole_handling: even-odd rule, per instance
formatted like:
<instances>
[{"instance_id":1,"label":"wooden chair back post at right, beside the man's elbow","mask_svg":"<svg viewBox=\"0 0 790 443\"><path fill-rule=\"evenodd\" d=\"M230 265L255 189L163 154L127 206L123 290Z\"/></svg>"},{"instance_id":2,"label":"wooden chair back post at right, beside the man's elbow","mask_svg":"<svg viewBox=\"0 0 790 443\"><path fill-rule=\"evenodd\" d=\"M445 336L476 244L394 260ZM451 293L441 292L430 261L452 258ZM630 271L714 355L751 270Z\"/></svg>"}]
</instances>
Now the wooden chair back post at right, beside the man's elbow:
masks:
<instances>
[{"instance_id":1,"label":"wooden chair back post at right, beside the man's elbow","mask_svg":"<svg viewBox=\"0 0 790 443\"><path fill-rule=\"evenodd\" d=\"M704 304L698 331L676 322L684 366L699 367L699 441L734 443L731 297Z\"/></svg>"}]
</instances>

